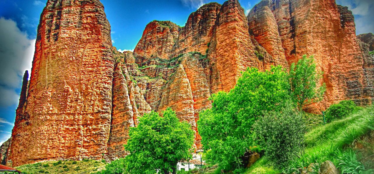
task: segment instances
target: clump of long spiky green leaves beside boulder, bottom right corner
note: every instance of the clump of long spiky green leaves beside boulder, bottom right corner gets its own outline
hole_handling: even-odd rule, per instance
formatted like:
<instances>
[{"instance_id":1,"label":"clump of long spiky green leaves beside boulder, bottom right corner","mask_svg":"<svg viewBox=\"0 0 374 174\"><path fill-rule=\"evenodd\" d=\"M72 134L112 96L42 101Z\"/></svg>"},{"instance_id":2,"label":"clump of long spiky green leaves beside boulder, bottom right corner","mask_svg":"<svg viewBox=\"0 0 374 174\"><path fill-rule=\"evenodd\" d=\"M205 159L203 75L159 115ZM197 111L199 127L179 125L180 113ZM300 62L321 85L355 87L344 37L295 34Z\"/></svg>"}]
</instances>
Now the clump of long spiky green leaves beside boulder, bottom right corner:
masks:
<instances>
[{"instance_id":1,"label":"clump of long spiky green leaves beside boulder, bottom right corner","mask_svg":"<svg viewBox=\"0 0 374 174\"><path fill-rule=\"evenodd\" d=\"M356 153L351 149L345 152L337 150L335 165L342 174L360 174L362 171L365 171L364 165L358 161Z\"/></svg>"}]
</instances>

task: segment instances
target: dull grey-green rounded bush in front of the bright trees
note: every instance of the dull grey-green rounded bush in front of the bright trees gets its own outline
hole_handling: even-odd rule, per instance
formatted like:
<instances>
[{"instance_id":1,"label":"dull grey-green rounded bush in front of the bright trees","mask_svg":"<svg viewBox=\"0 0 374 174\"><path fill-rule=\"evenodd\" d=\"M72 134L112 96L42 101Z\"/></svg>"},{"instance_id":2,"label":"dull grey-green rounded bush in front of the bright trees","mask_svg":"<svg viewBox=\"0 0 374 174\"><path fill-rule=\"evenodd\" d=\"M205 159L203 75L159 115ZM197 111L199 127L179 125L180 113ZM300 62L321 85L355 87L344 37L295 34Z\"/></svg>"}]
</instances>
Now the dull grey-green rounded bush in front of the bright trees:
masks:
<instances>
[{"instance_id":1,"label":"dull grey-green rounded bush in front of the bright trees","mask_svg":"<svg viewBox=\"0 0 374 174\"><path fill-rule=\"evenodd\" d=\"M258 143L266 147L265 155L276 165L287 166L303 154L305 121L291 103L282 112L266 112L253 127Z\"/></svg>"}]
</instances>

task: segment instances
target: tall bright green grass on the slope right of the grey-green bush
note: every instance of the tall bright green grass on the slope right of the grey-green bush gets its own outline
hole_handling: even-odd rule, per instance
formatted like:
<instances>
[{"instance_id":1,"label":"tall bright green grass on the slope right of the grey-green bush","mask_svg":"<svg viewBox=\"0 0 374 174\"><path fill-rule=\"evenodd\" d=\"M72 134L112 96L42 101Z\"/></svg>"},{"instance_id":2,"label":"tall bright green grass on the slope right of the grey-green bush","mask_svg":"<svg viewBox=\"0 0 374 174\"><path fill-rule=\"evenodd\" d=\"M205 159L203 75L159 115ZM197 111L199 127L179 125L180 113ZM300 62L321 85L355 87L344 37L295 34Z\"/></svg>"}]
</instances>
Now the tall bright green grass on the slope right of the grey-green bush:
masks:
<instances>
[{"instance_id":1,"label":"tall bright green grass on the slope right of the grey-green bush","mask_svg":"<svg viewBox=\"0 0 374 174\"><path fill-rule=\"evenodd\" d=\"M305 155L292 162L289 168L303 168L310 163L321 164L327 160L338 165L342 162L339 161L340 158L341 160L348 159L341 155L346 157L349 156L347 154L352 155L353 151L349 149L344 151L344 147L371 130L374 130L373 106L355 111L348 117L332 121L327 125L316 126L305 135ZM355 156L350 157L355 158ZM363 170L363 168L358 168L358 170Z\"/></svg>"}]
</instances>

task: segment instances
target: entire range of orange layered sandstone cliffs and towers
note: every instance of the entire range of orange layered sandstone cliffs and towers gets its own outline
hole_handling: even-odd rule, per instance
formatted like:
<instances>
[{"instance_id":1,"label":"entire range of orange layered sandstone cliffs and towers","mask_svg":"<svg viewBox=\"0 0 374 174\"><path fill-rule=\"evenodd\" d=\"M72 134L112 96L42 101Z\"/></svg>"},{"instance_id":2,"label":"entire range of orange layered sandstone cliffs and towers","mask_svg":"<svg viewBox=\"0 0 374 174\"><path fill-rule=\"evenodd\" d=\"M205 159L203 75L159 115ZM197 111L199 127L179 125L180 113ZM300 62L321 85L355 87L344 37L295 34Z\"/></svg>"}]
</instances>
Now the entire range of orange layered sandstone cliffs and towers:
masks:
<instances>
[{"instance_id":1,"label":"entire range of orange layered sandstone cliffs and towers","mask_svg":"<svg viewBox=\"0 0 374 174\"><path fill-rule=\"evenodd\" d=\"M334 0L263 0L248 16L229 0L203 5L184 27L152 21L134 52L120 53L99 0L49 0L2 163L124 157L138 117L167 107L190 123L200 149L196 123L211 94L232 89L247 67L287 70L303 54L315 56L327 86L307 110L371 104L374 58L358 38L352 13Z\"/></svg>"}]
</instances>

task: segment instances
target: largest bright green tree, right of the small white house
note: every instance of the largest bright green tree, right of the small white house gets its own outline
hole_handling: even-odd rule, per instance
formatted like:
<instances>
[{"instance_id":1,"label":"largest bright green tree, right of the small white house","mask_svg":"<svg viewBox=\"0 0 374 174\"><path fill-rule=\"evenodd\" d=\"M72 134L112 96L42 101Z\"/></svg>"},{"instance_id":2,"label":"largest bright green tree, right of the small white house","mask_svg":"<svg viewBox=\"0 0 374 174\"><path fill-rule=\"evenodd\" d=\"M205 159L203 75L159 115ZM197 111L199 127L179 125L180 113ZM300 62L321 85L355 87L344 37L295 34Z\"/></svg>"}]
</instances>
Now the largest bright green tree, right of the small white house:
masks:
<instances>
[{"instance_id":1,"label":"largest bright green tree, right of the small white house","mask_svg":"<svg viewBox=\"0 0 374 174\"><path fill-rule=\"evenodd\" d=\"M261 72L248 68L230 92L213 94L212 108L197 121L208 162L240 168L253 143L252 124L263 111L280 111L289 100L288 75L281 66Z\"/></svg>"}]
</instances>

